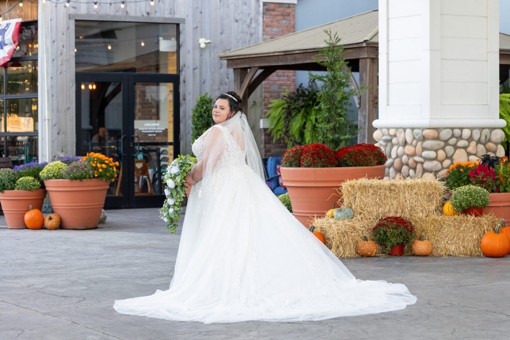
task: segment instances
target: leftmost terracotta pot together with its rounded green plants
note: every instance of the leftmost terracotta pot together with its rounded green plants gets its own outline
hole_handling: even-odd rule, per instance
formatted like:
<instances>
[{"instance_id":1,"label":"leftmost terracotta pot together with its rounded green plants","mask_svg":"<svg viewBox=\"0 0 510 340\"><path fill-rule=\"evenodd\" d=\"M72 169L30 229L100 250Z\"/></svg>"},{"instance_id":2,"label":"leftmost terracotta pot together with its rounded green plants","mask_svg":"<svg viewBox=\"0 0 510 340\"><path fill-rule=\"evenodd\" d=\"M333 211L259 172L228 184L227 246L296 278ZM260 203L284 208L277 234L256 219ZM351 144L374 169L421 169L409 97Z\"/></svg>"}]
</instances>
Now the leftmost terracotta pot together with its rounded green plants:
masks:
<instances>
[{"instance_id":1,"label":"leftmost terracotta pot together with its rounded green plants","mask_svg":"<svg viewBox=\"0 0 510 340\"><path fill-rule=\"evenodd\" d=\"M0 203L8 228L27 228L24 223L25 212L30 206L42 208L46 190L41 188L39 172L44 165L31 162L14 169L0 169Z\"/></svg>"}]
</instances>

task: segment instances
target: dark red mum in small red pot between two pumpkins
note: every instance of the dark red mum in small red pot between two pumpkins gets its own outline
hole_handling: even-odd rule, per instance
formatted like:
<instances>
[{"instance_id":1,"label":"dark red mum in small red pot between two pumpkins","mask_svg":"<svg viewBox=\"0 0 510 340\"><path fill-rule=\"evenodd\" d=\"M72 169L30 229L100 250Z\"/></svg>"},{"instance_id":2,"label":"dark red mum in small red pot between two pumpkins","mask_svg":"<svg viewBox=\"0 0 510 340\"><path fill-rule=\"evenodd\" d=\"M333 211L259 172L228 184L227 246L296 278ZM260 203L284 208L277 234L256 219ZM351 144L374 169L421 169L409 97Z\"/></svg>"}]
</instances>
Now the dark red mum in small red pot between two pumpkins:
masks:
<instances>
[{"instance_id":1,"label":"dark red mum in small red pot between two pumpkins","mask_svg":"<svg viewBox=\"0 0 510 340\"><path fill-rule=\"evenodd\" d=\"M404 244L414 238L413 224L400 216L382 218L373 228L374 240L385 245L390 255L402 255Z\"/></svg>"}]
</instances>

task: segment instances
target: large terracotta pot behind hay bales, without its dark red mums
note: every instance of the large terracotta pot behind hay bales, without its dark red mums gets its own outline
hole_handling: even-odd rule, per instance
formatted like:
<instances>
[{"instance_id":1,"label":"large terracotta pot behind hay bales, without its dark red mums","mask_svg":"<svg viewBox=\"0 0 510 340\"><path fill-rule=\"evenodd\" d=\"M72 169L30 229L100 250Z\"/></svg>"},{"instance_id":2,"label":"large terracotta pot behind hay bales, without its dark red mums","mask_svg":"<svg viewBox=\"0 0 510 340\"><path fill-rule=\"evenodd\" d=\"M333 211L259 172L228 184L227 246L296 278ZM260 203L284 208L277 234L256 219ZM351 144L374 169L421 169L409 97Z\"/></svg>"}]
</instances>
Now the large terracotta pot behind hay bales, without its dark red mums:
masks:
<instances>
[{"instance_id":1,"label":"large terracotta pot behind hay bales, without its dark red mums","mask_svg":"<svg viewBox=\"0 0 510 340\"><path fill-rule=\"evenodd\" d=\"M385 170L385 165L280 168L294 216L307 228L314 216L325 216L341 198L337 189L343 182L364 177L381 179Z\"/></svg>"}]
</instances>

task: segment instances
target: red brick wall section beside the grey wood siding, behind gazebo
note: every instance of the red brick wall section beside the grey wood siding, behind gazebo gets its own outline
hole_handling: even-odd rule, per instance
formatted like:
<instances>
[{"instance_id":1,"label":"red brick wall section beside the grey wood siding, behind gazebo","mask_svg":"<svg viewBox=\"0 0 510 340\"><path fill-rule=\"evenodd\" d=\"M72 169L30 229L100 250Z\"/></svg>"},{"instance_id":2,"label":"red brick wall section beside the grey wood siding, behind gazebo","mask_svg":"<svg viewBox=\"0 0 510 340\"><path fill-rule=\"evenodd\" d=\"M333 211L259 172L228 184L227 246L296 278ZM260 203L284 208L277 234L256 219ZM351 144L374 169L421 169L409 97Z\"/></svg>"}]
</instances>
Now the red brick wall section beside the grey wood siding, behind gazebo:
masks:
<instances>
[{"instance_id":1,"label":"red brick wall section beside the grey wood siding, behind gazebo","mask_svg":"<svg viewBox=\"0 0 510 340\"><path fill-rule=\"evenodd\" d=\"M295 31L295 8L294 4L263 3L262 37L264 40L276 38ZM278 99L287 90L294 90L296 87L295 71L279 70L274 72L263 83L264 115L269 110L271 100ZM282 156L285 143L276 140L267 131L261 131L262 157Z\"/></svg>"}]
</instances>

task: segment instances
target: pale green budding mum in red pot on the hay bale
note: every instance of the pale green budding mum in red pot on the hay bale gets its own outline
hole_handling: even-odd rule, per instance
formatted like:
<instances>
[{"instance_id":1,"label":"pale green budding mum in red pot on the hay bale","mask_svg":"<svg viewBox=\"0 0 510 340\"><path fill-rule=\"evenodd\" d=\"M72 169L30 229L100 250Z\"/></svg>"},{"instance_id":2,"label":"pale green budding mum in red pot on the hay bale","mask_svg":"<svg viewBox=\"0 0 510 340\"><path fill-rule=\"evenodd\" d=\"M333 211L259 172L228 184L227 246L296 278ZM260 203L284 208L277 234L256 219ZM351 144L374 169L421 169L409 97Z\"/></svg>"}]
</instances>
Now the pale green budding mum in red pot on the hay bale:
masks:
<instances>
[{"instance_id":1,"label":"pale green budding mum in red pot on the hay bale","mask_svg":"<svg viewBox=\"0 0 510 340\"><path fill-rule=\"evenodd\" d=\"M481 216L482 208L490 202L489 191L476 185L464 185L452 191L453 209L473 216Z\"/></svg>"}]
</instances>

